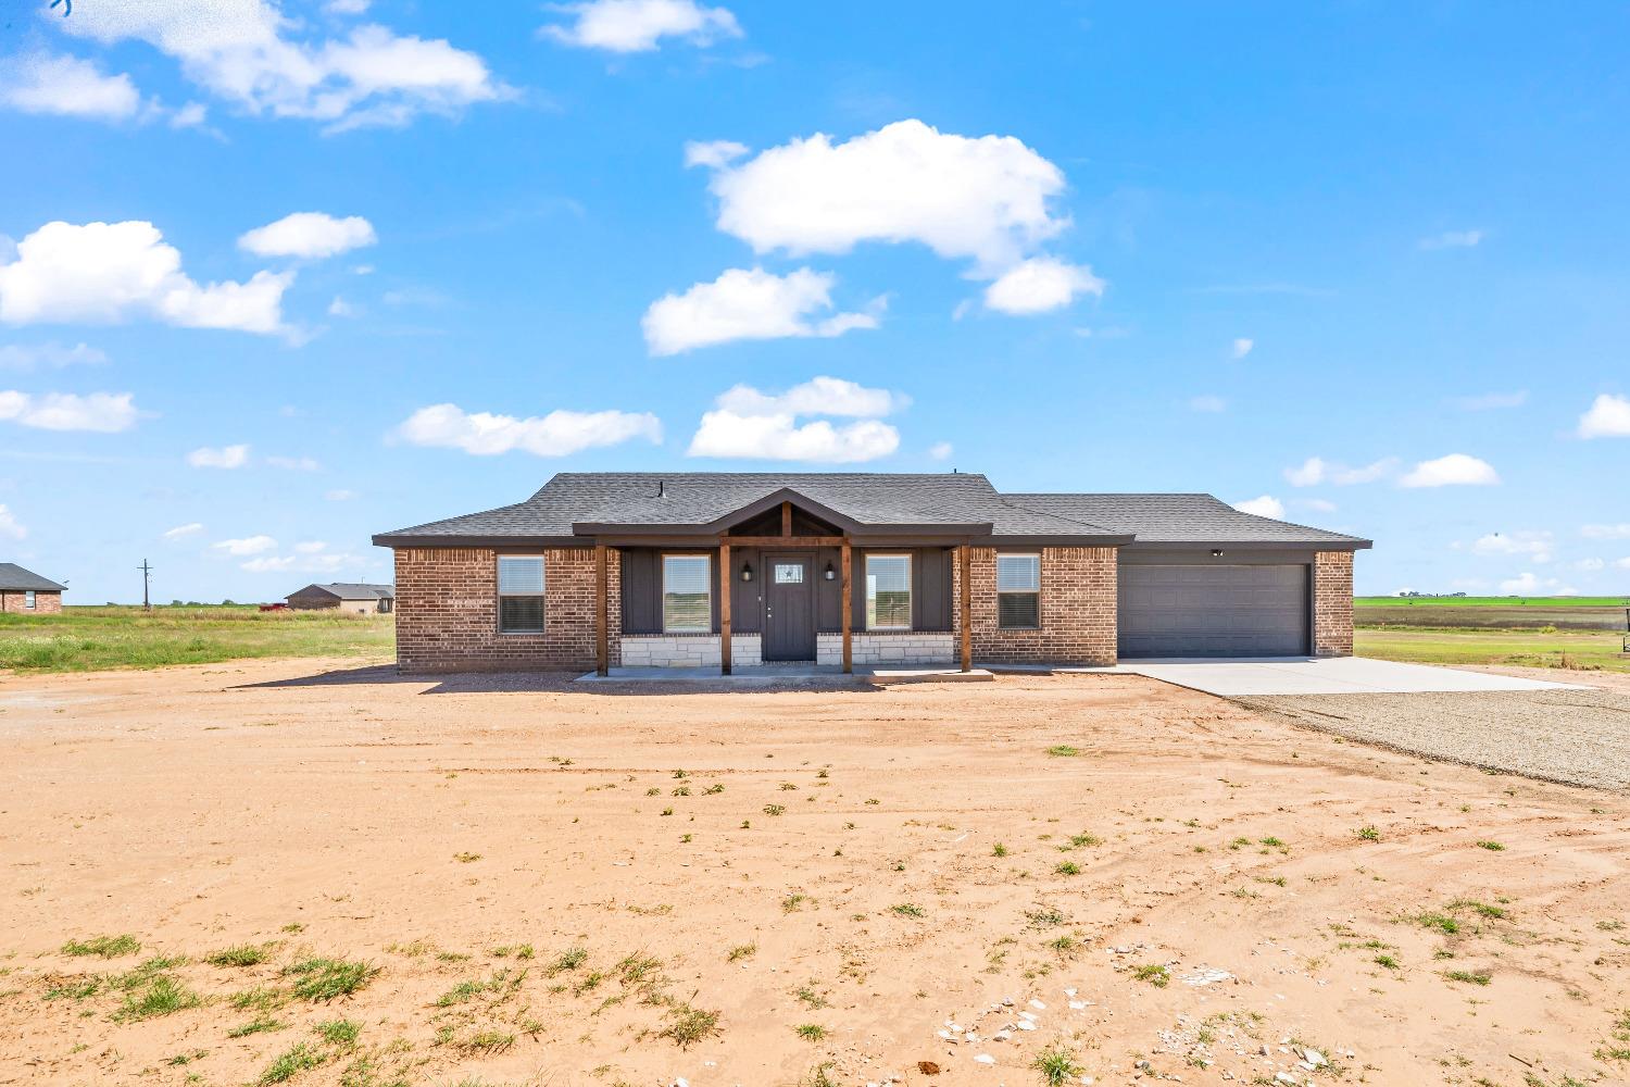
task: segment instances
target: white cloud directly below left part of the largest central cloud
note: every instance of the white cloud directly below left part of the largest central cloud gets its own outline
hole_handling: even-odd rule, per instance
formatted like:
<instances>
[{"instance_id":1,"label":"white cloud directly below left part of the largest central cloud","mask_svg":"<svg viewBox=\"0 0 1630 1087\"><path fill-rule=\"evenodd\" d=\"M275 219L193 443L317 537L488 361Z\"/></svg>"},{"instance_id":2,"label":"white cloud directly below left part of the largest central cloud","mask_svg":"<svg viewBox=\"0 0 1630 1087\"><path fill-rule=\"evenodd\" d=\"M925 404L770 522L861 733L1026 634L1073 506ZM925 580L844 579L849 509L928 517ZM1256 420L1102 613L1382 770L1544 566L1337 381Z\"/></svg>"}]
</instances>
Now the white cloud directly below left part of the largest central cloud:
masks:
<instances>
[{"instance_id":1,"label":"white cloud directly below left part of the largest central cloud","mask_svg":"<svg viewBox=\"0 0 1630 1087\"><path fill-rule=\"evenodd\" d=\"M737 339L786 336L843 336L851 329L877 328L885 298L872 300L872 313L831 310L831 272L800 267L787 275L734 267L711 284L696 284L683 295L663 295L650 303L642 321L652 355L673 355L694 347Z\"/></svg>"}]
</instances>

